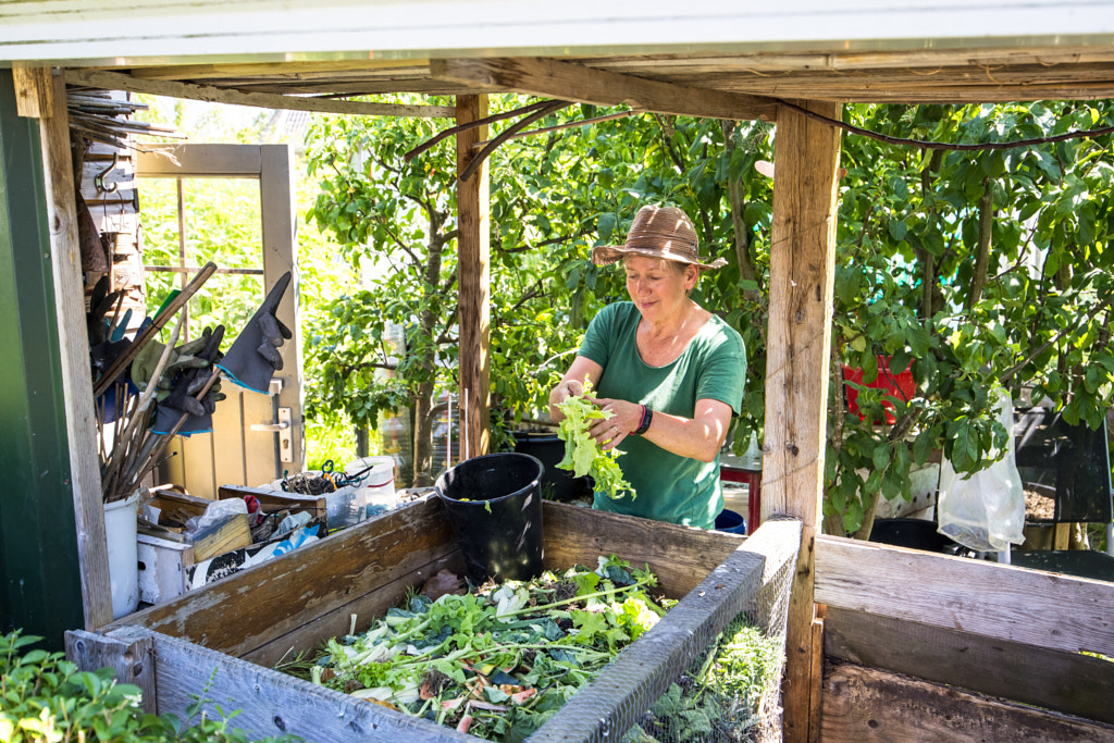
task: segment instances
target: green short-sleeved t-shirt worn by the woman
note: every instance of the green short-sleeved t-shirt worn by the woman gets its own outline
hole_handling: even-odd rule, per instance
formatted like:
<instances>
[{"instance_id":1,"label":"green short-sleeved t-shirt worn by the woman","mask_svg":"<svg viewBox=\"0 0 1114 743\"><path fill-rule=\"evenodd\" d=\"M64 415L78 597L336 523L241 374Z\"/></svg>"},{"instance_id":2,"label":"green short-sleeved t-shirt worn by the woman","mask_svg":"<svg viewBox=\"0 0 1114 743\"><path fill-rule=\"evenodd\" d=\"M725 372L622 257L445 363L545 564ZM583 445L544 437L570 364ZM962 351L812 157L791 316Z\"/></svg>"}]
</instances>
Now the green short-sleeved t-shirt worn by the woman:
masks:
<instances>
[{"instance_id":1,"label":"green short-sleeved t-shirt worn by the woman","mask_svg":"<svg viewBox=\"0 0 1114 743\"><path fill-rule=\"evenodd\" d=\"M596 393L629 400L654 412L693 418L696 401L720 400L737 416L746 380L746 351L737 332L712 316L676 360L651 366L638 354L642 315L633 302L617 302L597 314L584 336L580 355L604 368ZM618 465L636 498L612 500L596 493L600 510L711 529L723 510L720 458L702 462L680 457L641 436L619 444Z\"/></svg>"}]
</instances>

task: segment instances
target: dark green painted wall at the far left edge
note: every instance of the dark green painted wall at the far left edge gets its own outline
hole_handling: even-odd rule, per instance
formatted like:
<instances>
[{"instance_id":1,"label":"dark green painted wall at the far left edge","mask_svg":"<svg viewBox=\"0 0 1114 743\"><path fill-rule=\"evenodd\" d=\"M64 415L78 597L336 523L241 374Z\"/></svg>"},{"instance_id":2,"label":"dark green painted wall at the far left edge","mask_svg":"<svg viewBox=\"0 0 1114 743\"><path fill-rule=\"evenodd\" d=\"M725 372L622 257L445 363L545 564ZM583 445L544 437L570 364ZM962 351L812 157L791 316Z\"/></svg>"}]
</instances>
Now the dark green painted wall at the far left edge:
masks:
<instances>
[{"instance_id":1,"label":"dark green painted wall at the far left edge","mask_svg":"<svg viewBox=\"0 0 1114 743\"><path fill-rule=\"evenodd\" d=\"M37 119L0 70L0 632L85 626Z\"/></svg>"}]
</instances>

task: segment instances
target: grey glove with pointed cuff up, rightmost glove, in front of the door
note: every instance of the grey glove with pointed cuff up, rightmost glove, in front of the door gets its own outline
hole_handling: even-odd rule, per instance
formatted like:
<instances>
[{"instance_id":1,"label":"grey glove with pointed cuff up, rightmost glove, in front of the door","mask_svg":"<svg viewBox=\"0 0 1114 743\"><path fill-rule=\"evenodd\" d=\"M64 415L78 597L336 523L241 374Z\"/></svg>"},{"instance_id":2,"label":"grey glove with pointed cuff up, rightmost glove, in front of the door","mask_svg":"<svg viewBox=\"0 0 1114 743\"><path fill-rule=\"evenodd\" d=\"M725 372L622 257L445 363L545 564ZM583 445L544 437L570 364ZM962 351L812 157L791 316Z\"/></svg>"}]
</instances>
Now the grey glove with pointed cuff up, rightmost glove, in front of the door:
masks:
<instances>
[{"instance_id":1,"label":"grey glove with pointed cuff up, rightmost glove, in front of the door","mask_svg":"<svg viewBox=\"0 0 1114 743\"><path fill-rule=\"evenodd\" d=\"M275 312L290 281L289 271L280 276L263 304L228 349L228 353L217 364L228 379L241 387L266 393L272 375L283 366L278 348L293 338L293 334L275 316Z\"/></svg>"}]
</instances>

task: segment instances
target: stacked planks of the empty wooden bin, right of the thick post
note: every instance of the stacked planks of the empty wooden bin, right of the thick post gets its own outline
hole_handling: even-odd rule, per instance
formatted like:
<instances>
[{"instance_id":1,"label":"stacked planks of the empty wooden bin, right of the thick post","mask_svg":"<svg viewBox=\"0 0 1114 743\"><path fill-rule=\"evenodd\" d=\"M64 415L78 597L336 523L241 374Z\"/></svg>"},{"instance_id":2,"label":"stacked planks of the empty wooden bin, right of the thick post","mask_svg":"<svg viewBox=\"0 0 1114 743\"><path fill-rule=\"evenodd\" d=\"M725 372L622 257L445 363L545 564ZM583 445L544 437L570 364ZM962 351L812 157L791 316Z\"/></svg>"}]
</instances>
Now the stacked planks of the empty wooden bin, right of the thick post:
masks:
<instances>
[{"instance_id":1,"label":"stacked planks of the empty wooden bin, right of the thick post","mask_svg":"<svg viewBox=\"0 0 1114 743\"><path fill-rule=\"evenodd\" d=\"M1114 584L817 539L820 735L1114 741Z\"/></svg>"}]
</instances>

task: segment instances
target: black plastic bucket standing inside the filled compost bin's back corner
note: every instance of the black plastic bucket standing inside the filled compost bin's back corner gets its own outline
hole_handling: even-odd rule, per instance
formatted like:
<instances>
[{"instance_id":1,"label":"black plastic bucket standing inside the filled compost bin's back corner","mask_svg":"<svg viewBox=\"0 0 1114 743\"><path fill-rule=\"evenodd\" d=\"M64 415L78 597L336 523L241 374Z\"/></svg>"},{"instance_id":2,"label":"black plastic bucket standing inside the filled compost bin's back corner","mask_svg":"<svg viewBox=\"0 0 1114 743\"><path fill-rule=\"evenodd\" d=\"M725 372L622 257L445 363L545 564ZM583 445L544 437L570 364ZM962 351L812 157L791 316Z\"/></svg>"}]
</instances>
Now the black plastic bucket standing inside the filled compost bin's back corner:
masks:
<instances>
[{"instance_id":1,"label":"black plastic bucket standing inside the filled compost bin's back corner","mask_svg":"<svg viewBox=\"0 0 1114 743\"><path fill-rule=\"evenodd\" d=\"M466 459L437 479L465 571L476 584L541 574L541 462L502 452Z\"/></svg>"}]
</instances>

